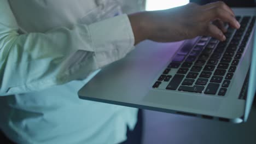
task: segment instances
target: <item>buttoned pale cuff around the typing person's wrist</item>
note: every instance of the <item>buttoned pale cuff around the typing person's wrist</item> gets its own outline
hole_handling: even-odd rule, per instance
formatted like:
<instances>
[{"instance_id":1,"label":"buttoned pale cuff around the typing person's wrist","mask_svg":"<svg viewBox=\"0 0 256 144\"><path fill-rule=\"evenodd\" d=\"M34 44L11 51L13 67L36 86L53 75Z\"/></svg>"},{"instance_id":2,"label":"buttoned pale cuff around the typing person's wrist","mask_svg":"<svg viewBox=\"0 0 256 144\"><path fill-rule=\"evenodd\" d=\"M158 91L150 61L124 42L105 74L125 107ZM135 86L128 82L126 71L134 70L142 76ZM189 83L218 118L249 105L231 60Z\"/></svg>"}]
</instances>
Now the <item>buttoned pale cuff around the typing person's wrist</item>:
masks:
<instances>
[{"instance_id":1,"label":"buttoned pale cuff around the typing person's wrist","mask_svg":"<svg viewBox=\"0 0 256 144\"><path fill-rule=\"evenodd\" d=\"M117 61L134 49L134 35L126 14L89 26L98 67Z\"/></svg>"}]
</instances>

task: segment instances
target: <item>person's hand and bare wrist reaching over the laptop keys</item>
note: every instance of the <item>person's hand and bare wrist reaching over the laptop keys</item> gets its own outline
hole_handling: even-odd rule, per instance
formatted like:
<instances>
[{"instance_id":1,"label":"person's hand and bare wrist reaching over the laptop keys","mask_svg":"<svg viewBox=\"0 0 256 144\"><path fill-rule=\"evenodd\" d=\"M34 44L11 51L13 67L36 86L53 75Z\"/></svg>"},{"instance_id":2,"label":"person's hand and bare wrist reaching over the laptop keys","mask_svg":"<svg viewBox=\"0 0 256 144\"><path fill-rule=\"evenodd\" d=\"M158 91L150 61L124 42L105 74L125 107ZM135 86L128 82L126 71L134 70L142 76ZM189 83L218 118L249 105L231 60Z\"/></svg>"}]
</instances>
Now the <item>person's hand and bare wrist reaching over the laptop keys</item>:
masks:
<instances>
[{"instance_id":1,"label":"person's hand and bare wrist reaching over the laptop keys","mask_svg":"<svg viewBox=\"0 0 256 144\"><path fill-rule=\"evenodd\" d=\"M189 3L182 7L144 11L129 15L135 44L150 39L159 42L179 41L207 35L225 40L224 22L239 28L234 12L223 2L206 5Z\"/></svg>"}]
</instances>

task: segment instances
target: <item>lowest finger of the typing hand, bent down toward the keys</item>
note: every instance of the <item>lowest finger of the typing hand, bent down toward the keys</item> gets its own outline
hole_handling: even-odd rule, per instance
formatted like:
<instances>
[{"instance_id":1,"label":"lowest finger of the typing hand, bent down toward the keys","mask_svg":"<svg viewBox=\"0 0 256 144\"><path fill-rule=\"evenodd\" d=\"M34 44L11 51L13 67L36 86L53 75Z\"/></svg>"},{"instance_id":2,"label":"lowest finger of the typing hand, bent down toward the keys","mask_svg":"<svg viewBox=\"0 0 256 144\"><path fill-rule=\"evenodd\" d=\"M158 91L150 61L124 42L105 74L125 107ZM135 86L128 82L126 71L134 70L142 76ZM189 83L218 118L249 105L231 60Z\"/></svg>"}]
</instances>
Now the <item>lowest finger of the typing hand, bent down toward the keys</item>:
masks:
<instances>
[{"instance_id":1,"label":"lowest finger of the typing hand, bent down toward the keys","mask_svg":"<svg viewBox=\"0 0 256 144\"><path fill-rule=\"evenodd\" d=\"M216 38L220 41L226 40L225 35L223 34L222 30L220 30L217 26L210 24L208 26L208 31L206 31L205 35L211 36Z\"/></svg>"}]
</instances>

